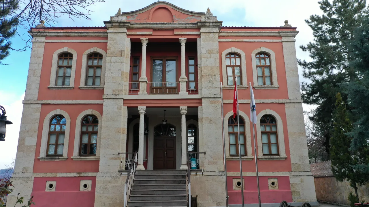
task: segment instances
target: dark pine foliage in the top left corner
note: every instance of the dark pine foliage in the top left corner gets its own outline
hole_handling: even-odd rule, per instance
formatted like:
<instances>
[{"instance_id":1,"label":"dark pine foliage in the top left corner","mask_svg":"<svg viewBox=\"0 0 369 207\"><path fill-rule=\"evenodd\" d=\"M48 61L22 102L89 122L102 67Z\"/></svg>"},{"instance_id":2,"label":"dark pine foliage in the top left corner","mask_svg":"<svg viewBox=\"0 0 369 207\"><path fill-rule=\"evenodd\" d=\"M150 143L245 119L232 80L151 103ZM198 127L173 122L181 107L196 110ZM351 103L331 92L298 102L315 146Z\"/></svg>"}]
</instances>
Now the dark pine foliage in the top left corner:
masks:
<instances>
[{"instance_id":1,"label":"dark pine foliage in the top left corner","mask_svg":"<svg viewBox=\"0 0 369 207\"><path fill-rule=\"evenodd\" d=\"M18 0L0 0L0 64L9 55L11 49L10 38L17 30L18 24L15 11L18 9Z\"/></svg>"}]
</instances>

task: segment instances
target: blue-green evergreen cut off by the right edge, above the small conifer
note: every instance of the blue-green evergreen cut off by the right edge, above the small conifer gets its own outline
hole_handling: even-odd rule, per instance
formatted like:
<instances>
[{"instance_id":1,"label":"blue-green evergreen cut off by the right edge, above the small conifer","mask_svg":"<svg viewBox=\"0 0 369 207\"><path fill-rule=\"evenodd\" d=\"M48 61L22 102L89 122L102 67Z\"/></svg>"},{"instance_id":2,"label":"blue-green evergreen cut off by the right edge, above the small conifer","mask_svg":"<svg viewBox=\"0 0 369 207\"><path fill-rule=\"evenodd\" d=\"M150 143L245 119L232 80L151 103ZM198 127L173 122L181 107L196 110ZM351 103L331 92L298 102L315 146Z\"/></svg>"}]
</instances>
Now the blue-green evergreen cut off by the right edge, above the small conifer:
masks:
<instances>
[{"instance_id":1,"label":"blue-green evergreen cut off by the right edge, above the small conifer","mask_svg":"<svg viewBox=\"0 0 369 207\"><path fill-rule=\"evenodd\" d=\"M353 138L351 150L367 146L369 142L369 18L366 17L362 27L355 29L352 39L352 65L359 74L359 79L348 84L349 105L354 108L356 116L354 129L349 136ZM368 155L369 156L369 155ZM369 160L369 157L368 157ZM369 172L369 167L364 168Z\"/></svg>"}]
</instances>

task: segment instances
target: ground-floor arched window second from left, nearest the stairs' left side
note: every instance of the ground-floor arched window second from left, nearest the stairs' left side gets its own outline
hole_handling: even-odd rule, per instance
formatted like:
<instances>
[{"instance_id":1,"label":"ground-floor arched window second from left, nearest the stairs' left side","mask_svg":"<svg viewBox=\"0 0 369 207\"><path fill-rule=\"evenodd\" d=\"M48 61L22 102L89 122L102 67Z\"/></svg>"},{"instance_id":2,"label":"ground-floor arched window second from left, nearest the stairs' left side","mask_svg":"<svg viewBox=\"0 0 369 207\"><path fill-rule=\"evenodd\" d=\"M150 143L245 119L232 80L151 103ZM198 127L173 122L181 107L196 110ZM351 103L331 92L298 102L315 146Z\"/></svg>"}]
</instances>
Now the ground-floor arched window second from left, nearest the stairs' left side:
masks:
<instances>
[{"instance_id":1,"label":"ground-floor arched window second from left, nearest the stairs' left side","mask_svg":"<svg viewBox=\"0 0 369 207\"><path fill-rule=\"evenodd\" d=\"M99 119L94 115L87 115L81 124L81 155L96 155L97 130L99 129Z\"/></svg>"}]
</instances>

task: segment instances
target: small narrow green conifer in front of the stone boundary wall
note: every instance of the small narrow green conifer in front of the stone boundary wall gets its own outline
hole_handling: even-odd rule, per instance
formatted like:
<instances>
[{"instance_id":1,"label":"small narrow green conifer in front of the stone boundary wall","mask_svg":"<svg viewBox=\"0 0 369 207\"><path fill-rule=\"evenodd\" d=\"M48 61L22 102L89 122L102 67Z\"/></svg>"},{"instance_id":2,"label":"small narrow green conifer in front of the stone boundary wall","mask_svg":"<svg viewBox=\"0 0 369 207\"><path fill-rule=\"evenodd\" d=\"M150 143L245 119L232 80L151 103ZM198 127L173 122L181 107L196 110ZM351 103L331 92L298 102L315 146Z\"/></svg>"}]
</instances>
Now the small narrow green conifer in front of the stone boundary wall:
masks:
<instances>
[{"instance_id":1,"label":"small narrow green conifer in front of the stone boundary wall","mask_svg":"<svg viewBox=\"0 0 369 207\"><path fill-rule=\"evenodd\" d=\"M355 165L365 163L365 157L369 151L366 148L358 148L356 151L350 150L352 139L346 133L352 130L352 123L340 93L336 95L335 107L333 114L335 120L333 123L334 130L331 137L332 172L338 181L347 180L350 182L359 200L356 184L364 185L369 180L369 174L357 170Z\"/></svg>"}]
</instances>

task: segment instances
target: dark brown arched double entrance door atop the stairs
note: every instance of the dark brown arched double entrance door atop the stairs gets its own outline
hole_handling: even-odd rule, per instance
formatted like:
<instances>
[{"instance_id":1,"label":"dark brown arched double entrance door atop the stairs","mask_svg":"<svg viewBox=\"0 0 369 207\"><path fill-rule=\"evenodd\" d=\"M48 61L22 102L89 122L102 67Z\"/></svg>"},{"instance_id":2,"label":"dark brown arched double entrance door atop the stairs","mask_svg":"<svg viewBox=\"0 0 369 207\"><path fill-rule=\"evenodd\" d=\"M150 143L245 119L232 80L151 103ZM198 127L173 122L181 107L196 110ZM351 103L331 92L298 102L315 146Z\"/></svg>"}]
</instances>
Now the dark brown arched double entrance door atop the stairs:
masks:
<instances>
[{"instance_id":1,"label":"dark brown arched double entrance door atop the stairs","mask_svg":"<svg viewBox=\"0 0 369 207\"><path fill-rule=\"evenodd\" d=\"M154 127L153 169L176 169L176 127L172 124Z\"/></svg>"}]
</instances>

